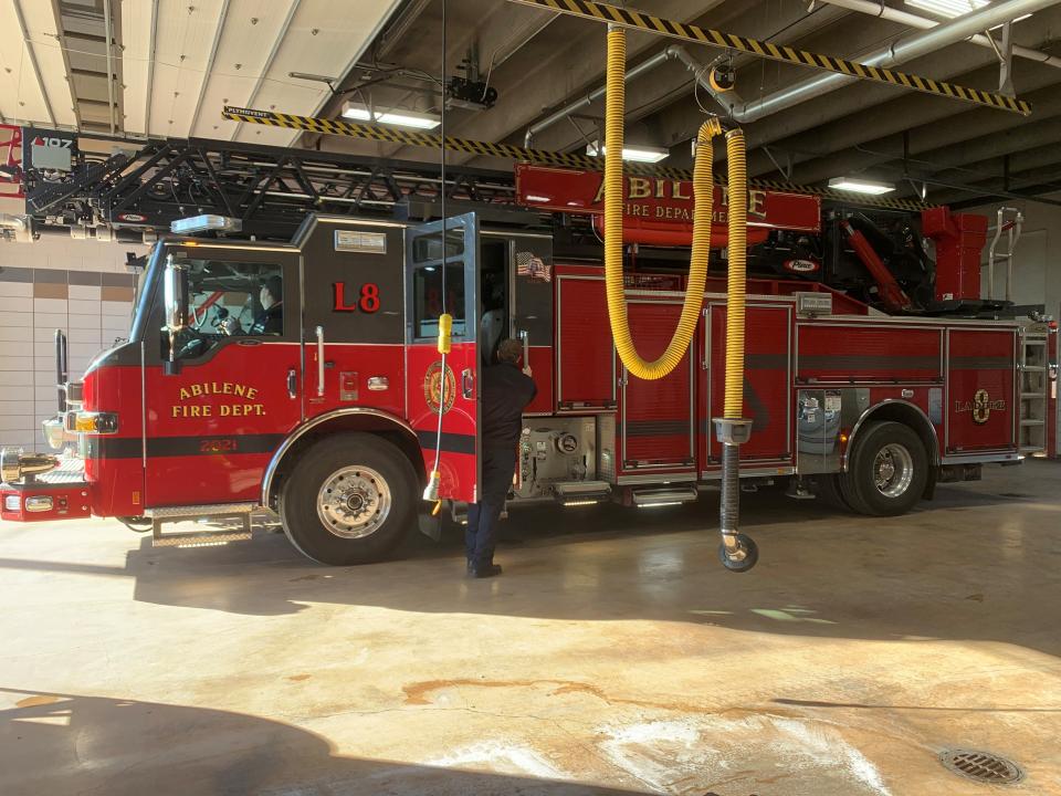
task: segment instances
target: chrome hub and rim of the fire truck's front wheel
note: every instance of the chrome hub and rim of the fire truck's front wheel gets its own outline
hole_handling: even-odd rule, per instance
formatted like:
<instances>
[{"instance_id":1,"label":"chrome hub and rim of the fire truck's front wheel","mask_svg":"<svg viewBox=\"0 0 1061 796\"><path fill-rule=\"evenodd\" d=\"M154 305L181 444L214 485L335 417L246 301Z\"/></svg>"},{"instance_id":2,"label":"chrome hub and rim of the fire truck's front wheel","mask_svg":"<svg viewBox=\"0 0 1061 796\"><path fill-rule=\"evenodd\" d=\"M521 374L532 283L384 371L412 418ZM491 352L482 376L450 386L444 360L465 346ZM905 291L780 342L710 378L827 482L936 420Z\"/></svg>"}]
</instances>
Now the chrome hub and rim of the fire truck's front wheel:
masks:
<instances>
[{"instance_id":1,"label":"chrome hub and rim of the fire truck's front wheel","mask_svg":"<svg viewBox=\"0 0 1061 796\"><path fill-rule=\"evenodd\" d=\"M387 481L371 468L355 464L336 470L317 493L317 516L343 538L364 538L387 521L391 494Z\"/></svg>"}]
</instances>

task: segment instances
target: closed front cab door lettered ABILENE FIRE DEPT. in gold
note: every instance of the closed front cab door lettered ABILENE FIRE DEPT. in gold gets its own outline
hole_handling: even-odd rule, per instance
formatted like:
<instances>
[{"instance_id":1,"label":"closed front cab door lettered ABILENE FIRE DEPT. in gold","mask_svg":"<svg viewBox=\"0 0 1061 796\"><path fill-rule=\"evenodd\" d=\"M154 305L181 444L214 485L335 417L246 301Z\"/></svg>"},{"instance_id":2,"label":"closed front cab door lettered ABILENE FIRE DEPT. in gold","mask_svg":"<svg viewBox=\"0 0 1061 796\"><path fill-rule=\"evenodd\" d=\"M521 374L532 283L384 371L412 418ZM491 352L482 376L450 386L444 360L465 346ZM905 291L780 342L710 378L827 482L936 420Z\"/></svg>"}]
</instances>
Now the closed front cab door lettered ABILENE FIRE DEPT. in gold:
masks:
<instances>
[{"instance_id":1,"label":"closed front cab door lettered ABILENE FIRE DEPT. in gold","mask_svg":"<svg viewBox=\"0 0 1061 796\"><path fill-rule=\"evenodd\" d=\"M146 338L145 506L258 501L273 452L302 419L298 254L169 251L188 273L189 327L172 365L168 335Z\"/></svg>"}]
</instances>

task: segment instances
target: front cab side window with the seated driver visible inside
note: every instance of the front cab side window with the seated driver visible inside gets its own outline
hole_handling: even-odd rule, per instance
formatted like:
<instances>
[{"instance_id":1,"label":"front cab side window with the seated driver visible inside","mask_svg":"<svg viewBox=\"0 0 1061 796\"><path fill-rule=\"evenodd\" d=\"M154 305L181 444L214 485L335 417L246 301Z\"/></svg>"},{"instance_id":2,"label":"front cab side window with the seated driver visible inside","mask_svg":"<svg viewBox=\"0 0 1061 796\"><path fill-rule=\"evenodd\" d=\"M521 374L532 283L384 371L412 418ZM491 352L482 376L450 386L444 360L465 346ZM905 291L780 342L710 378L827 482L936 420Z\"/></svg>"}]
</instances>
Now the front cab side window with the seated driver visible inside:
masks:
<instances>
[{"instance_id":1,"label":"front cab side window with the seated driver visible inside","mask_svg":"<svg viewBox=\"0 0 1061 796\"><path fill-rule=\"evenodd\" d=\"M229 337L284 334L281 265L224 260L185 260L183 265L189 325L178 336L178 358L202 356ZM162 347L167 346L164 333Z\"/></svg>"}]
</instances>

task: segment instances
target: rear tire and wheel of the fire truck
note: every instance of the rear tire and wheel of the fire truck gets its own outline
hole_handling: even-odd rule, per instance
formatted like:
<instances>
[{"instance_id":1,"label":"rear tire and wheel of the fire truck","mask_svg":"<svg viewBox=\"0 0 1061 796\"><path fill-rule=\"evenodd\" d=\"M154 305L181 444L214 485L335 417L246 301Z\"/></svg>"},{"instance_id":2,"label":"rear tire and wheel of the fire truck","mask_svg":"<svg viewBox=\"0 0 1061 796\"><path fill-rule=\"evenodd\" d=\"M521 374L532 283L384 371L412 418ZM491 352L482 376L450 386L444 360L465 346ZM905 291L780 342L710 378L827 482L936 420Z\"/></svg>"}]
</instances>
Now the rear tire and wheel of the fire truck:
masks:
<instances>
[{"instance_id":1,"label":"rear tire and wheel of the fire truck","mask_svg":"<svg viewBox=\"0 0 1061 796\"><path fill-rule=\"evenodd\" d=\"M872 422L855 438L848 472L839 481L841 494L860 514L905 514L925 491L928 454L908 426Z\"/></svg>"}]
</instances>

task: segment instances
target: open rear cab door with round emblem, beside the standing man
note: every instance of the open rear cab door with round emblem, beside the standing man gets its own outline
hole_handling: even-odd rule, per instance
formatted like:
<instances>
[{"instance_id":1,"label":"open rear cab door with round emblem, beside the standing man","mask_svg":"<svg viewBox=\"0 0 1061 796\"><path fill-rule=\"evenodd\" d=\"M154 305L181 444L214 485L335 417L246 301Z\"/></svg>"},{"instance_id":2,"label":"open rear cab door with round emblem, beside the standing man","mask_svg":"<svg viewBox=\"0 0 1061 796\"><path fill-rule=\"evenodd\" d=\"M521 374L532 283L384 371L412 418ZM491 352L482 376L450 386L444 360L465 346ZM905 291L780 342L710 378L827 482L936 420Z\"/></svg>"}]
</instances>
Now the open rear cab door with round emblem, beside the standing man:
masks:
<instances>
[{"instance_id":1,"label":"open rear cab door with round emblem, beside the standing man","mask_svg":"<svg viewBox=\"0 0 1061 796\"><path fill-rule=\"evenodd\" d=\"M444 245L443 245L444 231ZM439 496L474 502L480 479L479 224L474 213L406 230L406 404ZM439 318L453 316L440 354Z\"/></svg>"}]
</instances>

